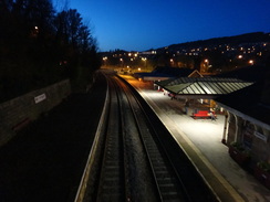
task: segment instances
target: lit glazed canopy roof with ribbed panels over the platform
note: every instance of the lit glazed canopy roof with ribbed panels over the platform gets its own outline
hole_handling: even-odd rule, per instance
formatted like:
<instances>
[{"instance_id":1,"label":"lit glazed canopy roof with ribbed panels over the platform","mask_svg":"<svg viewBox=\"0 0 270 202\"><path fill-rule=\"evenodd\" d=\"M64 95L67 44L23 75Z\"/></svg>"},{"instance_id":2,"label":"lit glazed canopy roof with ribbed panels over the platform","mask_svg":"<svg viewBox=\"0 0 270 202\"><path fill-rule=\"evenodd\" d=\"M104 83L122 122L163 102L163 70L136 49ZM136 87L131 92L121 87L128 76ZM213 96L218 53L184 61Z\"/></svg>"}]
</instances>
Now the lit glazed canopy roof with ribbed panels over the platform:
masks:
<instances>
[{"instance_id":1,"label":"lit glazed canopy roof with ribbed panels over the platform","mask_svg":"<svg viewBox=\"0 0 270 202\"><path fill-rule=\"evenodd\" d=\"M155 82L155 84L175 95L210 98L230 94L253 83L238 78L179 77L176 79Z\"/></svg>"}]
</instances>

